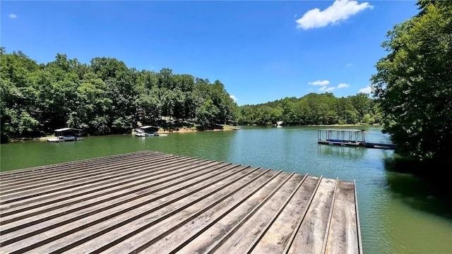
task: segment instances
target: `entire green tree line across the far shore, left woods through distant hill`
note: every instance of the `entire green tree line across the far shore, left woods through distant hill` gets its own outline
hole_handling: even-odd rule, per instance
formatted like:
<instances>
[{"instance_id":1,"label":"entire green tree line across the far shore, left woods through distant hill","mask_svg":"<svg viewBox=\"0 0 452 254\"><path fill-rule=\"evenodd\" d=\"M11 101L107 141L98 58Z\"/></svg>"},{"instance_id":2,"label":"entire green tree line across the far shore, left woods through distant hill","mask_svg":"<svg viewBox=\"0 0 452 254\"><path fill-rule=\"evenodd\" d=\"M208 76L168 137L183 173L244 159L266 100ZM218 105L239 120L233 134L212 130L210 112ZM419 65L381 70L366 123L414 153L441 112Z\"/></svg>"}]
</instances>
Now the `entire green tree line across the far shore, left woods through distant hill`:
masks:
<instances>
[{"instance_id":1,"label":"entire green tree line across the far shore, left woods through distant hill","mask_svg":"<svg viewBox=\"0 0 452 254\"><path fill-rule=\"evenodd\" d=\"M57 54L37 63L23 52L0 49L1 142L38 137L61 127L85 134L130 133L138 123L161 126L173 119L201 128L218 124L379 123L381 114L367 94L335 97L311 93L238 107L220 80L129 68L96 57L89 64Z\"/></svg>"}]
</instances>

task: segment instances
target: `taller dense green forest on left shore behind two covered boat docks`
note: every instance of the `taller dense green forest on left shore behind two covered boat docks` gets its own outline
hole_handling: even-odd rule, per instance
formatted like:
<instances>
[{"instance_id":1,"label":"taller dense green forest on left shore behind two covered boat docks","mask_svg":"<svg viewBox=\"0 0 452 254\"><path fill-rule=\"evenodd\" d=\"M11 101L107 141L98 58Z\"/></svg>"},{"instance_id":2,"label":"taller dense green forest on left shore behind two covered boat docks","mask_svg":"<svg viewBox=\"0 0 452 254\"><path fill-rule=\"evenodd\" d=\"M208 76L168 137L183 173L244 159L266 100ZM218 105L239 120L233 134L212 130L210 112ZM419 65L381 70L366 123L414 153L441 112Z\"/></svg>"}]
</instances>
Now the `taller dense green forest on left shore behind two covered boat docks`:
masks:
<instances>
[{"instance_id":1,"label":"taller dense green forest on left shore behind two covered boat docks","mask_svg":"<svg viewBox=\"0 0 452 254\"><path fill-rule=\"evenodd\" d=\"M47 64L23 52L0 49L1 141L37 137L55 128L83 128L85 134L130 133L138 121L189 120L198 126L237 118L237 104L220 80L128 68L99 57L90 64L57 54Z\"/></svg>"}]
</instances>

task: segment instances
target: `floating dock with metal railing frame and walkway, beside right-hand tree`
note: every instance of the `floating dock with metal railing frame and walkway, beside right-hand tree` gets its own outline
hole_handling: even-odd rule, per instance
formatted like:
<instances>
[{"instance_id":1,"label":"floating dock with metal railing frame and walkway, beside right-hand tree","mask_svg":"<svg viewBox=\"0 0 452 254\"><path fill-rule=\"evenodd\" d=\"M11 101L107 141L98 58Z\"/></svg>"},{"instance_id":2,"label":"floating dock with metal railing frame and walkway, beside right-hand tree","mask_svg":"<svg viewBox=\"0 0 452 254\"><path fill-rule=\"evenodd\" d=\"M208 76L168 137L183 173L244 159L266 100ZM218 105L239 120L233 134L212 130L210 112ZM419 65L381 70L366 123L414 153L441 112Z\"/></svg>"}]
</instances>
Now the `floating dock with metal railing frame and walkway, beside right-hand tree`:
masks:
<instances>
[{"instance_id":1,"label":"floating dock with metal railing frame and walkway, beside right-hand tree","mask_svg":"<svg viewBox=\"0 0 452 254\"><path fill-rule=\"evenodd\" d=\"M327 128L317 131L319 144L395 150L396 145L366 142L364 130Z\"/></svg>"}]
</instances>

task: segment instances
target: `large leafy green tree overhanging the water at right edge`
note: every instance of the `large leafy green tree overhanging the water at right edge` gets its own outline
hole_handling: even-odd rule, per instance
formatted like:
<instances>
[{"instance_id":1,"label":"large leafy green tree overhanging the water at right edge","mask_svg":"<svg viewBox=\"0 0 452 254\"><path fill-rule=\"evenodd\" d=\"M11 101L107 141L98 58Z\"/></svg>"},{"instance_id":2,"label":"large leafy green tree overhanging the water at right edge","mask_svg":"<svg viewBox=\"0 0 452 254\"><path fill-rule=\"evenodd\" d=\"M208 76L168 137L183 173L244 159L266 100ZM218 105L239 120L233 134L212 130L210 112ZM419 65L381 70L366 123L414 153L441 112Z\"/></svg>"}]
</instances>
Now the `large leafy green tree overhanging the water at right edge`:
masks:
<instances>
[{"instance_id":1,"label":"large leafy green tree overhanging the water at right edge","mask_svg":"<svg viewBox=\"0 0 452 254\"><path fill-rule=\"evenodd\" d=\"M418 5L418 16L388 32L388 55L371 80L398 152L445 159L452 150L452 2Z\"/></svg>"}]
</instances>

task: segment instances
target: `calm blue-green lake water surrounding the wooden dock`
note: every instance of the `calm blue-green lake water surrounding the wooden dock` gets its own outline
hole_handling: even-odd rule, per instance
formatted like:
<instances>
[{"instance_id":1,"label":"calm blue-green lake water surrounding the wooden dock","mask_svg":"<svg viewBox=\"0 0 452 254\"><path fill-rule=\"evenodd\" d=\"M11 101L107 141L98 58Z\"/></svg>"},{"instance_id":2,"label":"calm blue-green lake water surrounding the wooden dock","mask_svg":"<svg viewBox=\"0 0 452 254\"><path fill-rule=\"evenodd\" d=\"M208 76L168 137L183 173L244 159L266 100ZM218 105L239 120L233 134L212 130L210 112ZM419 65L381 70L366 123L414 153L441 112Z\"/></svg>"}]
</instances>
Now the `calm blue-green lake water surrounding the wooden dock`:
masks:
<instances>
[{"instance_id":1,"label":"calm blue-green lake water surrounding the wooden dock","mask_svg":"<svg viewBox=\"0 0 452 254\"><path fill-rule=\"evenodd\" d=\"M153 150L356 181L364 253L452 253L452 207L410 174L393 173L390 150L317 144L317 128L89 137L80 142L1 145L1 171ZM388 142L380 128L367 141Z\"/></svg>"}]
</instances>

